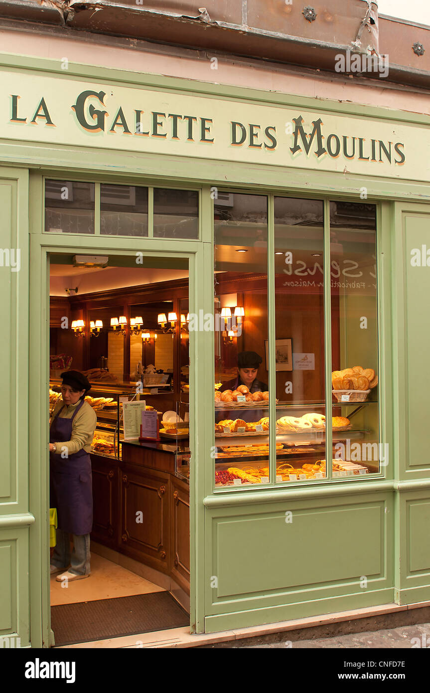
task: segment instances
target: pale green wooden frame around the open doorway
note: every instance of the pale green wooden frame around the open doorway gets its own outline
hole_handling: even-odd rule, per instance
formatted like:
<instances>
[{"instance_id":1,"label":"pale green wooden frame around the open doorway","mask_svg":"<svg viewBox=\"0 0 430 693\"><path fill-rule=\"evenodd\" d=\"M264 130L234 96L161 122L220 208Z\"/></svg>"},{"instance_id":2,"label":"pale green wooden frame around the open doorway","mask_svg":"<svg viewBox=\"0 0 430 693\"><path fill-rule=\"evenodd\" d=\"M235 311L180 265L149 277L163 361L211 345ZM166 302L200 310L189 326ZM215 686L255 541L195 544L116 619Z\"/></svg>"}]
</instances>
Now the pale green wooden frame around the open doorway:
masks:
<instances>
[{"instance_id":1,"label":"pale green wooden frame around the open doorway","mask_svg":"<svg viewBox=\"0 0 430 693\"><path fill-rule=\"evenodd\" d=\"M109 242L110 241L110 242ZM172 250L172 245L181 245L181 251ZM169 249L170 246L170 249ZM208 313L213 310L213 297L202 286L201 277L212 272L212 252L208 243L183 241L178 243L158 239L139 239L138 250L144 256L163 258L187 258L189 266L189 310ZM109 256L136 256L136 239L107 238L98 236L73 236L71 238L48 234L30 236L30 507L36 518L41 518L42 529L37 530L37 539L31 543L31 589L34 604L37 593L42 594L42 607L34 613L32 622L33 647L42 647L50 641L49 613L49 544L48 544L48 426L46 392L49 385L49 253L87 252ZM200 278L200 279L198 279ZM207 374L213 367L213 356L203 344L204 333L190 333L190 438L192 449L192 473L190 477L190 626L191 632L201 632L204 628L204 606L199 593L199 571L202 571L203 552L197 547L204 545L204 506L197 498L204 496L204 465L195 464L196 459L204 459L204 450L210 444L207 439L212 430L210 412L203 416L206 425L197 428L197 412L201 421L205 412L204 401L208 401L213 386ZM197 356L198 355L198 356ZM195 383L199 382L199 390ZM205 391L208 392L205 392ZM205 434L206 432L206 434ZM36 523L38 525L39 523ZM42 564L41 564L42 560ZM39 636L37 633L41 634Z\"/></svg>"}]
</instances>

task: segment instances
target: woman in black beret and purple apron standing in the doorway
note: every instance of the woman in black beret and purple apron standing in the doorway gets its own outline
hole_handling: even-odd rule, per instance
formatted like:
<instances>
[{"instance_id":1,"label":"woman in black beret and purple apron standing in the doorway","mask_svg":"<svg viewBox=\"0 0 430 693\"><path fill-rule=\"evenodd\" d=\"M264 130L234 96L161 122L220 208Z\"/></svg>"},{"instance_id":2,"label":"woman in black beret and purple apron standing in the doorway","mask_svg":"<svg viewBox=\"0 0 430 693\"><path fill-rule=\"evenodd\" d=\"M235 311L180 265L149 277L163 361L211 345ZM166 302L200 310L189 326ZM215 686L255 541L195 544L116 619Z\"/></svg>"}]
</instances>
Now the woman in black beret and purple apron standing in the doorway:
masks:
<instances>
[{"instance_id":1,"label":"woman in black beret and purple apron standing in the doorway","mask_svg":"<svg viewBox=\"0 0 430 693\"><path fill-rule=\"evenodd\" d=\"M58 518L51 573L62 572L57 581L71 581L90 574L93 489L89 450L97 416L85 401L91 389L87 378L79 371L65 371L61 377L62 399L54 407L49 431L50 507L57 508ZM72 554L69 534L73 534Z\"/></svg>"}]
</instances>

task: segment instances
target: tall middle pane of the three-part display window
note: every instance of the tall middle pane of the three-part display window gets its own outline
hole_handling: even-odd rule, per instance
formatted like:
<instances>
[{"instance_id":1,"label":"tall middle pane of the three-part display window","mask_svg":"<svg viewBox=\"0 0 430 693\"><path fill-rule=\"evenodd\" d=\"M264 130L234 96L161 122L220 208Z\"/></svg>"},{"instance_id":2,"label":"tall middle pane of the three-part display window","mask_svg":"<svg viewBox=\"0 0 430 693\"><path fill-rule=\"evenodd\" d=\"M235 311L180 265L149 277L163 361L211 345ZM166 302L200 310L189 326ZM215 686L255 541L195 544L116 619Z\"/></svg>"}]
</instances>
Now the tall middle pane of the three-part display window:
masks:
<instances>
[{"instance_id":1,"label":"tall middle pane of the three-part display window","mask_svg":"<svg viewBox=\"0 0 430 693\"><path fill-rule=\"evenodd\" d=\"M321 479L325 459L323 202L275 198L276 481Z\"/></svg>"}]
</instances>

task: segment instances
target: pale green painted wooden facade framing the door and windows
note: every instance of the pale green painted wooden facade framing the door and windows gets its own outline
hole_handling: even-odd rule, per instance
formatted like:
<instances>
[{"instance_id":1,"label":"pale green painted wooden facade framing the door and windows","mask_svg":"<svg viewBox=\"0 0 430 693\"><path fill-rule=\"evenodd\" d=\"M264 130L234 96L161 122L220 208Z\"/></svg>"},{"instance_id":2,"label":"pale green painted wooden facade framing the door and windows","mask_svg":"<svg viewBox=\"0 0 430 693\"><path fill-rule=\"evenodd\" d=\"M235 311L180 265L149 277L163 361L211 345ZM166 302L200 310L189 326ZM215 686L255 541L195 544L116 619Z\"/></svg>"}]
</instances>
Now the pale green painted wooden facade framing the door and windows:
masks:
<instances>
[{"instance_id":1,"label":"pale green painted wooden facade framing the door and windows","mask_svg":"<svg viewBox=\"0 0 430 693\"><path fill-rule=\"evenodd\" d=\"M1 70L26 71L41 79L46 74L64 78L58 64L48 60L28 64L3 55ZM260 107L289 105L384 123L412 123L415 143L430 125L430 118L419 114L351 103L315 103L161 76L85 66L70 66L69 75L90 85L104 80L136 89L243 99ZM19 272L0 267L2 324L10 326L10 338L0 340L0 362L6 374L0 399L0 637L18 635L21 647L50 644L48 253L80 250L135 258L138 250L145 256L187 258L190 313L211 313L213 186L267 193L269 209L276 193L357 201L360 188L368 188L368 202L377 204L380 439L389 445L390 461L379 477L366 480L240 493L213 491L214 411L208 405L213 402L213 336L191 332L191 631L221 631L391 602L430 601L430 427L426 425L430 322L425 308L430 269L411 267L409 261L411 249L426 245L430 234L429 184L324 172L317 163L312 171L292 170L267 163L167 153L136 155L69 144L50 147L24 140L1 139L0 145L0 245L21 249ZM201 195L200 238L141 238L136 247L136 238L44 234L44 177L192 186ZM325 222L327 229L328 202ZM273 233L269 228L269 252ZM329 234L325 238L328 243ZM329 326L329 252L325 258L325 324ZM274 277L269 273L270 287L269 340L274 340ZM325 330L325 340L325 352L330 354L330 329ZM331 371L328 359L328 392ZM326 414L331 416L329 403ZM274 459L271 465L274 468ZM293 511L295 525L285 523L286 511Z\"/></svg>"}]
</instances>

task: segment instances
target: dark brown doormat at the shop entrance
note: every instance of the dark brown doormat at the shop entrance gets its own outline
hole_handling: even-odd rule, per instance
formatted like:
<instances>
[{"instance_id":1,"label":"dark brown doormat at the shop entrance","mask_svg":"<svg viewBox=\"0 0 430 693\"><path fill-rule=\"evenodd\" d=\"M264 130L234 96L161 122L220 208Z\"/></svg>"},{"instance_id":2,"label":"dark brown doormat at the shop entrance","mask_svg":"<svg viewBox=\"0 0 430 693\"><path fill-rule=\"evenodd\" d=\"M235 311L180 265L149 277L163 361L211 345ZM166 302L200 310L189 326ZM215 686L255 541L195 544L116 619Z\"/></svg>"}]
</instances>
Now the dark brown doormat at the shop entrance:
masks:
<instances>
[{"instance_id":1,"label":"dark brown doormat at the shop entrance","mask_svg":"<svg viewBox=\"0 0 430 693\"><path fill-rule=\"evenodd\" d=\"M188 613L169 592L51 606L55 647L189 624Z\"/></svg>"}]
</instances>

